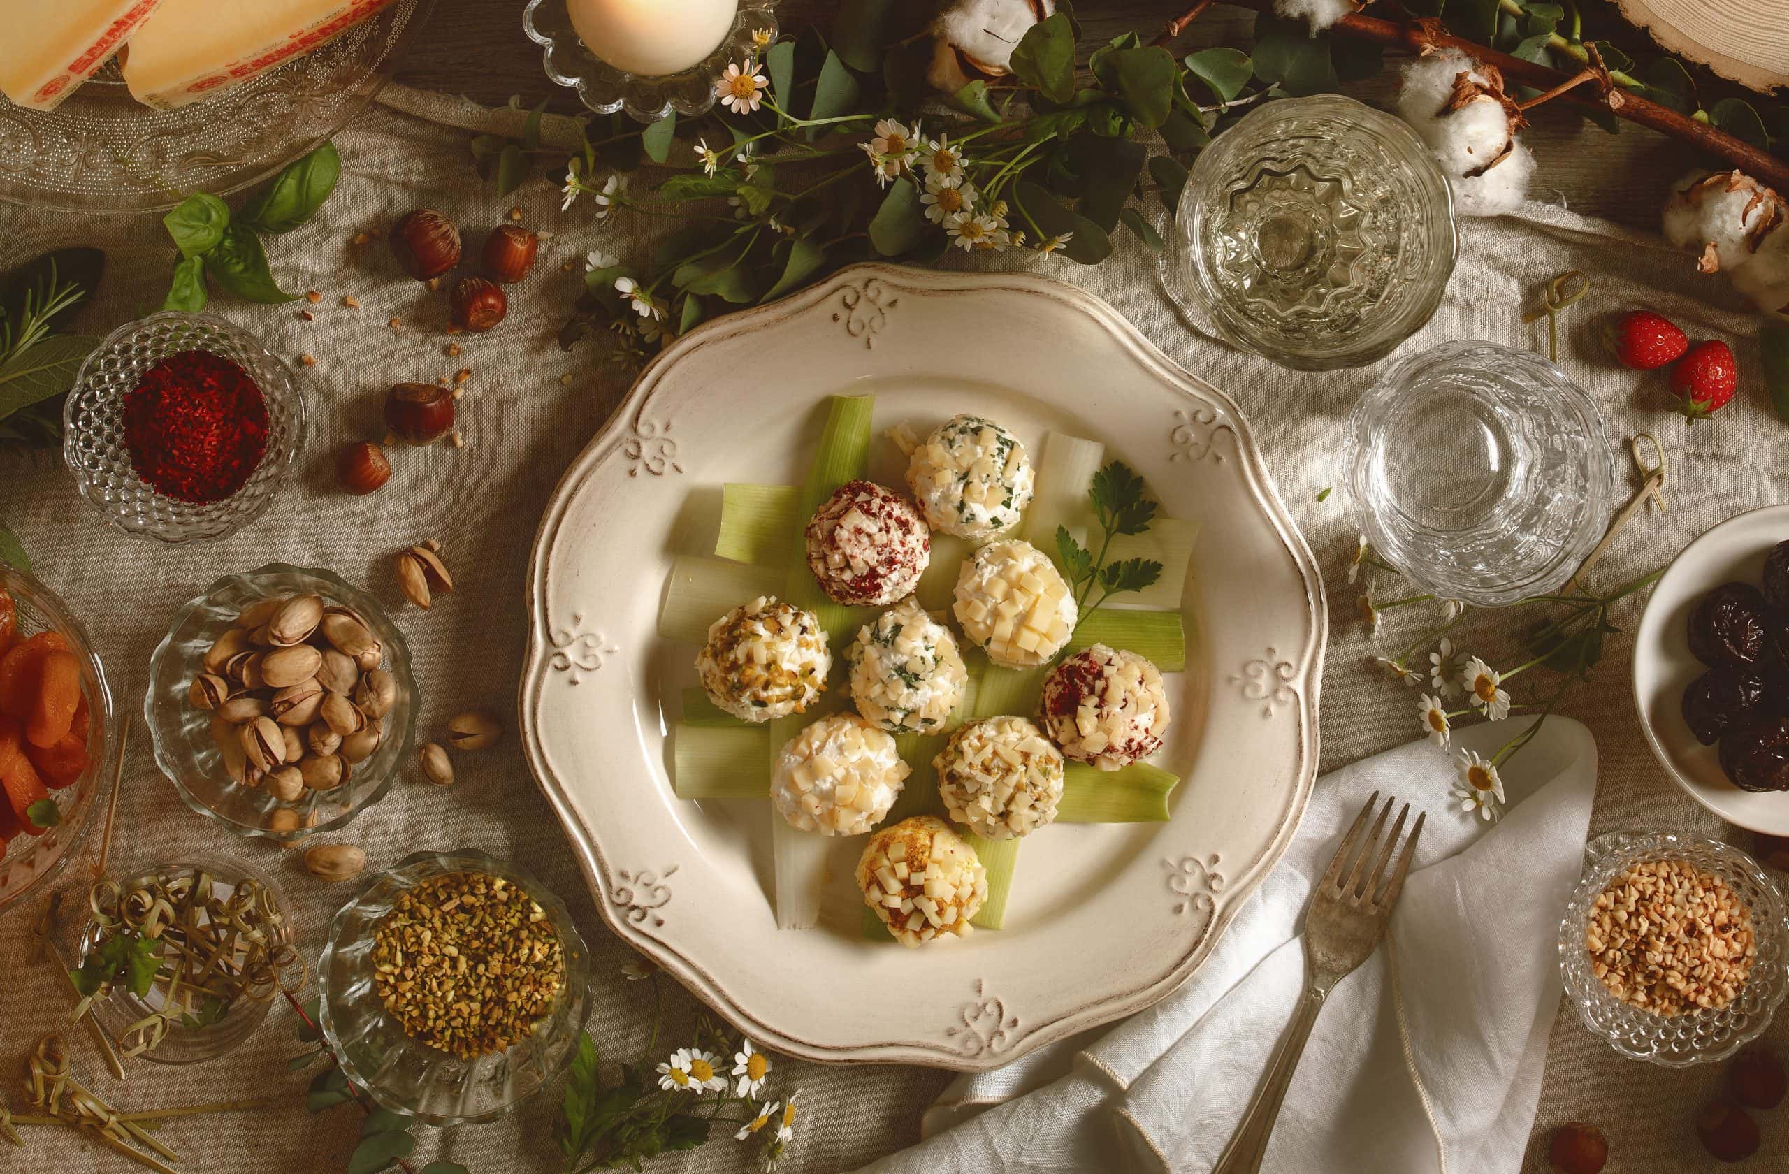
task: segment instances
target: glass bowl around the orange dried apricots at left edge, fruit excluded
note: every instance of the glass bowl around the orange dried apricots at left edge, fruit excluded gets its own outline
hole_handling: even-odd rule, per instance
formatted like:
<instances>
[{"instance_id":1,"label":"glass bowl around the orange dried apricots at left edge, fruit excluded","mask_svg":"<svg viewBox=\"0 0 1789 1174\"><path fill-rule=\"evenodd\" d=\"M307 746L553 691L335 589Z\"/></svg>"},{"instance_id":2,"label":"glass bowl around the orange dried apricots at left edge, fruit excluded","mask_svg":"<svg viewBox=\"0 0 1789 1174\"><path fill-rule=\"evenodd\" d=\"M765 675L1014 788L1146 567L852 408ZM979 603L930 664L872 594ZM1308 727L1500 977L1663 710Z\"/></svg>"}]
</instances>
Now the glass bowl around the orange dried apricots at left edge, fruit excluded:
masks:
<instances>
[{"instance_id":1,"label":"glass bowl around the orange dried apricots at left edge, fruit excluded","mask_svg":"<svg viewBox=\"0 0 1789 1174\"><path fill-rule=\"evenodd\" d=\"M45 630L61 632L68 651L81 660L81 689L88 700L88 768L70 786L50 791L63 816L55 827L43 836L21 832L4 845L0 859L0 913L4 913L43 889L68 868L68 861L81 855L93 812L111 786L113 707L100 655L68 605L48 587L4 562L0 562L0 591L13 600L18 639ZM4 802L0 796L0 804Z\"/></svg>"}]
</instances>

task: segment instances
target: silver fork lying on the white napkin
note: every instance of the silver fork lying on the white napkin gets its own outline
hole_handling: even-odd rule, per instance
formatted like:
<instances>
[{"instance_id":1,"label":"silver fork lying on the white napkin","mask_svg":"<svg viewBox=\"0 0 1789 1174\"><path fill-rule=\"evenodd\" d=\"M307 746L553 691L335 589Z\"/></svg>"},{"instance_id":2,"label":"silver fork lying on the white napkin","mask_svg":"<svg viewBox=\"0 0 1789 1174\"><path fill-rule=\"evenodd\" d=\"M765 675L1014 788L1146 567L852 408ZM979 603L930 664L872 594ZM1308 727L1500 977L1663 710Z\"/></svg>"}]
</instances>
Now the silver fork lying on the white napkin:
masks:
<instances>
[{"instance_id":1,"label":"silver fork lying on the white napkin","mask_svg":"<svg viewBox=\"0 0 1789 1174\"><path fill-rule=\"evenodd\" d=\"M1329 872L1317 882L1311 907L1304 915L1304 999L1299 1000L1286 1038L1274 1052L1274 1063L1267 1067L1259 1092L1254 1093L1254 1101L1242 1115L1242 1124L1236 1126L1236 1136L1224 1147L1224 1156L1218 1158L1211 1174L1254 1174L1261 1169L1261 1158L1267 1156L1267 1138L1274 1133L1279 1106L1286 1099L1286 1086L1292 1085L1299 1056L1304 1054L1304 1042L1311 1038L1317 1013L1324 1009L1324 1000L1336 983L1372 956L1379 934L1385 932L1385 922L1392 915L1392 906L1397 904L1397 893L1404 888L1404 873L1410 872L1417 836L1422 834L1424 812L1417 812L1417 821L1410 829L1410 838L1404 839L1397 866L1386 877L1385 866L1390 863L1392 852L1397 850L1397 838L1404 830L1410 804L1399 809L1392 834L1381 839L1385 818L1392 814L1392 804L1397 802L1386 798L1379 818L1372 823L1372 832L1363 841L1361 829L1367 827L1367 816L1372 814L1378 802L1379 793L1374 791L1367 798L1367 805L1354 816L1354 827L1342 838L1342 846L1329 861ZM1361 870L1372 861L1374 850L1378 850L1379 859L1361 880Z\"/></svg>"}]
</instances>

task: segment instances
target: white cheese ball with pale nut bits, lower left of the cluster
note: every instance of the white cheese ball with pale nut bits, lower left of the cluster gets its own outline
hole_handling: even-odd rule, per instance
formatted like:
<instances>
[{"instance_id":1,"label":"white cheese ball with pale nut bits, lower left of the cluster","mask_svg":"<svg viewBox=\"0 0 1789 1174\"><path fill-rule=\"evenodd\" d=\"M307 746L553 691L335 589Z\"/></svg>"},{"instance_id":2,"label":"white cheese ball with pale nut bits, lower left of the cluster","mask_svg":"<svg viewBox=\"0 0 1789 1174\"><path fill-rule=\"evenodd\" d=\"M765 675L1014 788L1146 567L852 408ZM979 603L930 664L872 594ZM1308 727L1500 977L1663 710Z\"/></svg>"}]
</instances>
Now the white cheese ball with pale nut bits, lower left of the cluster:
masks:
<instances>
[{"instance_id":1,"label":"white cheese ball with pale nut bits, lower left of the cluster","mask_svg":"<svg viewBox=\"0 0 1789 1174\"><path fill-rule=\"evenodd\" d=\"M776 753L771 802L803 832L862 836L894 805L909 770L889 734L857 714L828 714Z\"/></svg>"}]
</instances>

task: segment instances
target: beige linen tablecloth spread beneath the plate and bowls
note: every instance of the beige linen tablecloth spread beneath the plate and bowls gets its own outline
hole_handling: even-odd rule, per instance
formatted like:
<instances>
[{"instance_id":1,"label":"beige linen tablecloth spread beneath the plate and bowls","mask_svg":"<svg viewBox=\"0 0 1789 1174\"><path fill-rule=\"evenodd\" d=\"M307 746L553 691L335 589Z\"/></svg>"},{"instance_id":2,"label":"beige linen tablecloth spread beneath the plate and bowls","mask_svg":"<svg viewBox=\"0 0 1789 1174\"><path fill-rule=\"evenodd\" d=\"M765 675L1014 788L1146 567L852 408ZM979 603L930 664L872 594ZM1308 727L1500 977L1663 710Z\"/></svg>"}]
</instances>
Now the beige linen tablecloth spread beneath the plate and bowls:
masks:
<instances>
[{"instance_id":1,"label":"beige linen tablecloth spread beneath the plate and bowls","mask_svg":"<svg viewBox=\"0 0 1789 1174\"><path fill-rule=\"evenodd\" d=\"M138 714L125 768L116 864L148 864L181 850L259 855L277 870L297 906L302 941L311 952L349 886L315 880L302 872L295 854L279 859L277 848L242 843L179 804L150 759L140 721L148 653L174 610L227 571L270 560L327 566L374 591L404 626L422 687L422 737L438 737L447 718L471 707L488 707L512 719L526 634L524 571L535 523L560 472L628 385L628 374L596 351L562 354L555 331L576 295L585 251L637 256L667 224L644 217L598 224L589 204L560 215L558 191L542 181L499 200L472 172L469 127L513 131L519 122L512 113L386 89L381 106L336 136L343 177L322 213L304 229L270 242L281 283L322 294L311 308L317 320L301 320L292 306L215 301L215 311L258 333L288 362L301 354L317 358L315 367L297 367L311 410L308 453L279 501L256 524L204 546L136 542L104 528L88 512L54 455L36 465L0 458L0 517L34 555L39 574L86 621L106 657L120 710ZM555 233L542 249L537 276L513 288L508 320L490 335L460 336L463 354L456 358L444 354L444 299L403 277L379 243L383 229L415 206L445 211L474 240L512 206L522 209L526 224ZM351 243L363 231L374 242ZM77 243L102 245L111 256L106 286L82 320L88 331L104 333L159 304L174 247L154 217L77 218L52 209L0 206L0 263ZM1474 336L1544 347L1544 326L1522 326L1521 311L1535 302L1542 281L1565 268L1583 268L1594 277L1592 292L1564 319L1564 363L1603 408L1617 438L1641 428L1666 438L1671 508L1648 512L1630 528L1605 558L1599 583L1657 566L1730 514L1784 499L1789 431L1771 415L1755 379L1759 354L1750 338L1751 324L1723 279L1696 276L1691 261L1662 240L1544 206L1530 206L1521 218L1467 222L1462 245L1440 311L1403 351ZM562 268L565 263L569 272ZM1376 367L1286 372L1188 333L1157 292L1152 254L1129 238L1120 242L1116 256L1095 268L1029 256L988 258L988 263L1034 267L1104 297L1172 358L1242 404L1279 492L1329 583L1333 644L1322 696L1322 768L1408 741L1417 732L1413 693L1374 669L1370 657L1399 651L1431 616L1394 612L1381 635L1369 639L1345 583L1354 523L1340 467L1344 424ZM361 308L343 306L343 295L356 297ZM1639 304L1666 311L1692 336L1735 342L1746 372L1739 401L1712 422L1689 430L1664 413L1669 401L1660 376L1637 376L1601 360L1594 333L1598 315ZM397 328L388 326L394 317ZM347 438L383 433L379 404L390 383L429 381L460 367L472 369L460 401L467 446L399 453L390 485L370 498L349 499L335 492L329 455ZM562 383L562 376L571 381ZM746 381L741 396L750 394ZM1335 492L1318 501L1318 492L1329 487ZM444 544L458 591L424 614L403 605L390 558L395 549L429 537ZM1386 598L1385 591L1379 598ZM1637 601L1626 605L1615 623L1632 626L1637 610ZM1508 635L1496 617L1476 617L1456 634L1456 644L1485 650L1485 655L1508 653ZM1601 780L1592 834L1608 827L1726 834L1719 820L1664 777L1646 750L1630 700L1628 651L1628 637L1612 637L1594 680L1574 691L1564 707L1598 743ZM1521 770L1519 759L1512 770ZM363 845L370 868L424 846L467 845L528 859L567 898L592 943L596 975L589 1029L599 1052L610 1061L633 1059L646 1040L649 999L640 984L621 977L619 965L630 952L603 929L572 852L528 775L513 730L490 752L458 755L456 771L451 789L433 789L408 768L383 804L333 839ZM1446 795L1437 791L1428 798L1438 814ZM1750 843L1744 832L1734 839ZM73 879L64 884L79 907L79 884ZM32 1038L52 1029L66 1006L63 981L25 961L27 922L25 913L14 913L0 934L0 974L5 975L0 1061L5 1065L13 1065ZM673 991L662 1038L673 1045L680 1042L696 1011L691 997ZM1789 1024L1778 1022L1771 1036L1780 1045L1789 1042ZM97 1058L81 1043L77 1067L98 1081L102 1095L131 1108L250 1092L276 1097L276 1108L265 1113L191 1119L165 1129L163 1136L188 1154L186 1169L340 1169L354 1145L360 1113L338 1108L311 1117L304 1111L309 1077L284 1072L284 1059L299 1051L292 1017L276 1015L252 1043L227 1059L181 1070L157 1067L152 1077L148 1068L138 1067L125 1088L104 1077ZM0 1068L0 1081L14 1101L16 1072L16 1067ZM1594 1120L1610 1135L1617 1169L1703 1169L1707 1158L1689 1117L1714 1095L1719 1081L1716 1070L1666 1072L1621 1059L1589 1036L1574 1015L1562 1013L1528 1169L1546 1169L1547 1126L1569 1119ZM946 1074L921 1068L828 1068L780 1059L775 1086L782 1093L801 1086L805 1111L785 1169L855 1169L912 1144L923 1110L946 1083ZM538 1097L499 1124L440 1135L422 1129L417 1156L462 1161L474 1174L555 1170L558 1156L547 1136L553 1099ZM1789 1144L1789 1113L1764 1115L1762 1122L1768 1145ZM32 1169L50 1169L52 1161L75 1170L123 1169L122 1158L59 1131L39 1129L30 1140L34 1151L23 1160ZM748 1151L717 1138L692 1154L655 1160L653 1169L726 1170L748 1160Z\"/></svg>"}]
</instances>

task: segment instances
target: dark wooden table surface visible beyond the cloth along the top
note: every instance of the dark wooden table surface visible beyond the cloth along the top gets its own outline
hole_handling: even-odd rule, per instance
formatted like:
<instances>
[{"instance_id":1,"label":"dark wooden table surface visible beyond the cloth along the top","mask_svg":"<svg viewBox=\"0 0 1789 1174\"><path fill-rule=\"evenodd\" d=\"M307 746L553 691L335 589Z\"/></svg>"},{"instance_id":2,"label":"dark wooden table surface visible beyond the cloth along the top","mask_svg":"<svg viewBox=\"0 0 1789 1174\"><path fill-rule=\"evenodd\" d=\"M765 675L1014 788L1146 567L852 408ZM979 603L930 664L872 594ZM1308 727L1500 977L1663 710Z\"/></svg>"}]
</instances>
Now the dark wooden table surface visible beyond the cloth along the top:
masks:
<instances>
[{"instance_id":1,"label":"dark wooden table surface visible beyond the cloth along the top","mask_svg":"<svg viewBox=\"0 0 1789 1174\"><path fill-rule=\"evenodd\" d=\"M553 86L540 70L540 48L522 36L521 2L437 0L435 14L397 64L397 81L420 89L462 93L488 106L521 95L526 104L551 98L549 109L576 113L576 95ZM780 5L784 29L807 23L830 27L830 0L787 0ZM1120 32L1154 36L1168 16L1184 7L1183 0L1082 0L1075 13L1082 21L1086 45L1098 45ZM1637 57L1657 54L1642 32L1621 21L1614 4L1583 0L1585 36L1607 38ZM1254 13L1213 7L1193 23L1179 48L1234 45L1247 48ZM1369 100L1388 100L1395 89L1388 68L1379 79L1349 91ZM1726 84L1703 86L1703 102L1712 104ZM1567 206L1589 215L1608 217L1628 227L1657 229L1658 206L1666 188L1691 166L1701 165L1694 150L1678 140L1642 127L1623 125L1621 134L1567 113L1539 109L1524 140L1540 159L1531 195L1564 197Z\"/></svg>"}]
</instances>

